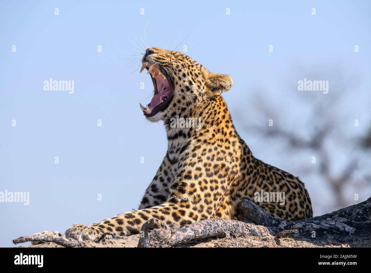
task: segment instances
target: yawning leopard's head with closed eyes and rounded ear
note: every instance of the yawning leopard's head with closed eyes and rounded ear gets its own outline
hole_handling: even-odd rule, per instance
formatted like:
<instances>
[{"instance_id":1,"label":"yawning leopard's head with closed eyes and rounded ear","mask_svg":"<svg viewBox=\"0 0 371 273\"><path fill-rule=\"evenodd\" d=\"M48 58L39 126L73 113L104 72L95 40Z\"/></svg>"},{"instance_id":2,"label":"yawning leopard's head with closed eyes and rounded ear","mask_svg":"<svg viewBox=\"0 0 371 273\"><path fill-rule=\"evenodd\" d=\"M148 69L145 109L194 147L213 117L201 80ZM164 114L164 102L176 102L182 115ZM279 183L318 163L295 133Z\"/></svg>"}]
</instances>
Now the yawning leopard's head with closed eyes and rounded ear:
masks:
<instances>
[{"instance_id":1,"label":"yawning leopard's head with closed eyes and rounded ear","mask_svg":"<svg viewBox=\"0 0 371 273\"><path fill-rule=\"evenodd\" d=\"M142 58L154 85L154 95L146 107L140 104L149 121L166 120L192 110L232 87L229 75L213 74L187 55L151 47ZM147 74L148 74L147 73Z\"/></svg>"}]
</instances>

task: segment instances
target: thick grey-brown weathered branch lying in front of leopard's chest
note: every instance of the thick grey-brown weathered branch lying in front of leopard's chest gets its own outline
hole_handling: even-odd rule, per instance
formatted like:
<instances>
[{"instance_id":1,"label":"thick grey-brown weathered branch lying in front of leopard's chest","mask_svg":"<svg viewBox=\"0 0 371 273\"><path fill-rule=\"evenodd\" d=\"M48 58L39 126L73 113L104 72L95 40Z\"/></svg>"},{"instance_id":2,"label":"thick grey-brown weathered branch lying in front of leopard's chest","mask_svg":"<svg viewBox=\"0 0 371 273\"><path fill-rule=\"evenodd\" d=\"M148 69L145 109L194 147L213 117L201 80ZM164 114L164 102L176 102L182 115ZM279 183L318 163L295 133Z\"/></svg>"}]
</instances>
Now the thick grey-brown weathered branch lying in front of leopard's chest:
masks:
<instances>
[{"instance_id":1,"label":"thick grey-brown weathered branch lying in front of leopard's chest","mask_svg":"<svg viewBox=\"0 0 371 273\"><path fill-rule=\"evenodd\" d=\"M152 218L142 226L138 247L171 247L194 239L242 235L262 237L269 235L269 231L261 225L223 219L198 221L178 229Z\"/></svg>"}]
</instances>

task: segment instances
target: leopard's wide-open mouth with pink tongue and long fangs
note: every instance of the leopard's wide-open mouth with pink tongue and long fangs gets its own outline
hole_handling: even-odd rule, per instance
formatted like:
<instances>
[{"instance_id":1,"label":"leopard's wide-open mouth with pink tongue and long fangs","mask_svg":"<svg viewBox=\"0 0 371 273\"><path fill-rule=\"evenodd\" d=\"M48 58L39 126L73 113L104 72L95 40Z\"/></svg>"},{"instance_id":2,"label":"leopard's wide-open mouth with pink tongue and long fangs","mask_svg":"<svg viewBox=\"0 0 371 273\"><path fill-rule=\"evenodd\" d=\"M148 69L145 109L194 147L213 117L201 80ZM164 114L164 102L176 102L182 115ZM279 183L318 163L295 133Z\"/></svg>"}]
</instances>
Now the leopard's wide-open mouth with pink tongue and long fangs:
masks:
<instances>
[{"instance_id":1,"label":"leopard's wide-open mouth with pink tongue and long fangs","mask_svg":"<svg viewBox=\"0 0 371 273\"><path fill-rule=\"evenodd\" d=\"M171 78L169 79L166 77L158 66L150 62L144 62L140 72L142 72L144 68L147 68L147 74L149 73L151 75L155 90L151 102L147 104L146 107L142 104L139 105L144 116L151 117L168 107L173 98L174 86Z\"/></svg>"}]
</instances>

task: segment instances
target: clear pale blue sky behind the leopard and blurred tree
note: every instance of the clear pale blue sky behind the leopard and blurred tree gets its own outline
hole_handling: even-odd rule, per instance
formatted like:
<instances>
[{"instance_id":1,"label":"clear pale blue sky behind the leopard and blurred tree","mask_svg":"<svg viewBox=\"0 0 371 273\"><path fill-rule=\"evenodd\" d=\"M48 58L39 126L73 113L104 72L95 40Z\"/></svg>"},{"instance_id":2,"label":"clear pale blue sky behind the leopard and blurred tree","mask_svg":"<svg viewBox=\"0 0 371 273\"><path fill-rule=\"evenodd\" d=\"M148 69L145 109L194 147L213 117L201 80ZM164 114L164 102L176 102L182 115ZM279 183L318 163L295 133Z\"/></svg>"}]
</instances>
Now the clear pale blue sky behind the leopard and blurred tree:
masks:
<instances>
[{"instance_id":1,"label":"clear pale blue sky behind the leopard and blurred tree","mask_svg":"<svg viewBox=\"0 0 371 273\"><path fill-rule=\"evenodd\" d=\"M223 96L237 131L267 163L303 177L293 166L310 155L283 160L278 147L267 150L262 139L239 129L256 115L252 96L260 92L282 124L305 133L295 122L311 108L298 102L295 88L308 71L321 80L342 75L337 84L350 85L341 102L350 136L370 126L369 1L133 2L1 1L0 191L30 192L30 204L0 203L0 246L138 208L167 147L163 125L146 121L139 108L150 101L150 77L126 68L135 57L125 52L139 54L129 40L141 47L147 22L148 45L163 48L174 37L173 48L186 38L177 50L186 45L186 54L211 72L231 75L233 88ZM74 94L44 91L49 78L73 80ZM315 96L331 100L332 91L330 85L326 97ZM315 214L329 212L316 205L326 204L316 202L318 185L304 182Z\"/></svg>"}]
</instances>

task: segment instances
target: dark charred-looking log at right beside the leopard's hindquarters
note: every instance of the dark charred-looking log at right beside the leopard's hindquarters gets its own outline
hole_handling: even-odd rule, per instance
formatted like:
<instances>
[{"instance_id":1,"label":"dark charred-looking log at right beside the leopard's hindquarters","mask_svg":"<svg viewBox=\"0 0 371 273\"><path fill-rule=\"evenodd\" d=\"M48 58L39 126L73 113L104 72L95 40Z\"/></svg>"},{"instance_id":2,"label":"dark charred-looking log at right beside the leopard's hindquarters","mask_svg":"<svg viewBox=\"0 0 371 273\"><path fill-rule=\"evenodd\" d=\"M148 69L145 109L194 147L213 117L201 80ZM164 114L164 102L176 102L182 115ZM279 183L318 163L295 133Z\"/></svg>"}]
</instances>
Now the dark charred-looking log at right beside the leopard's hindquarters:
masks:
<instances>
[{"instance_id":1,"label":"dark charred-looking log at right beside the leopard's hindquarters","mask_svg":"<svg viewBox=\"0 0 371 273\"><path fill-rule=\"evenodd\" d=\"M272 235L282 230L298 230L293 238L338 242L371 237L371 197L338 211L298 221L272 217L247 199L240 203L239 208L243 221L265 225Z\"/></svg>"}]
</instances>

